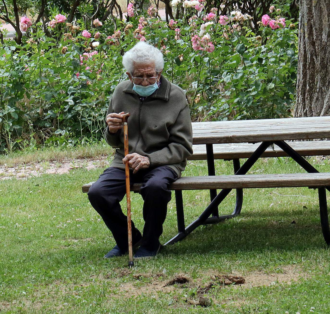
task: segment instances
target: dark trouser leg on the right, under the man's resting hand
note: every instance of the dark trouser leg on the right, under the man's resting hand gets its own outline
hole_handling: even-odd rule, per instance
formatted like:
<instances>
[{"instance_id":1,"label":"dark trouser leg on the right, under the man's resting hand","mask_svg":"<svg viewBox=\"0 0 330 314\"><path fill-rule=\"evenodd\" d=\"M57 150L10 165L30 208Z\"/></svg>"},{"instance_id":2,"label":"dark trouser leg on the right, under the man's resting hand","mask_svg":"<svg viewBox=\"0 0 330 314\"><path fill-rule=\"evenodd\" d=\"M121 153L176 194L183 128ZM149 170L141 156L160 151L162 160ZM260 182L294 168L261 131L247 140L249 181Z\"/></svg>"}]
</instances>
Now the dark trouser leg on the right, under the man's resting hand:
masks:
<instances>
[{"instance_id":1,"label":"dark trouser leg on the right, under the man's resting hand","mask_svg":"<svg viewBox=\"0 0 330 314\"><path fill-rule=\"evenodd\" d=\"M177 174L169 167L161 166L148 171L143 178L140 194L144 200L143 219L145 225L141 246L153 251L159 246L159 237L163 232L163 223L167 214L167 204L171 200L170 183Z\"/></svg>"}]
</instances>

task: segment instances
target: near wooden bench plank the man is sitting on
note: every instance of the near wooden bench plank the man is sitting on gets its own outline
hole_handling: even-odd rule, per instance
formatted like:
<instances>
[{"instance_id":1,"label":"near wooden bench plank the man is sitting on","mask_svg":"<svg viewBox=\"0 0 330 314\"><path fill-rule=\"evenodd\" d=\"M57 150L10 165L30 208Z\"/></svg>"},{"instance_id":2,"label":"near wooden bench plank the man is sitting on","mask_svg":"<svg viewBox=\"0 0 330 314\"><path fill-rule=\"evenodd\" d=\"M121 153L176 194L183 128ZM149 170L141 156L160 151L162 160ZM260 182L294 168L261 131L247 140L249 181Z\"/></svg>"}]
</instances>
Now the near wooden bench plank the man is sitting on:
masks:
<instances>
[{"instance_id":1,"label":"near wooden bench plank the man is sitting on","mask_svg":"<svg viewBox=\"0 0 330 314\"><path fill-rule=\"evenodd\" d=\"M84 184L88 192L93 182ZM250 174L182 177L170 185L170 190L212 190L252 188L330 187L330 173ZM139 192L141 184L133 184L132 192Z\"/></svg>"}]
</instances>

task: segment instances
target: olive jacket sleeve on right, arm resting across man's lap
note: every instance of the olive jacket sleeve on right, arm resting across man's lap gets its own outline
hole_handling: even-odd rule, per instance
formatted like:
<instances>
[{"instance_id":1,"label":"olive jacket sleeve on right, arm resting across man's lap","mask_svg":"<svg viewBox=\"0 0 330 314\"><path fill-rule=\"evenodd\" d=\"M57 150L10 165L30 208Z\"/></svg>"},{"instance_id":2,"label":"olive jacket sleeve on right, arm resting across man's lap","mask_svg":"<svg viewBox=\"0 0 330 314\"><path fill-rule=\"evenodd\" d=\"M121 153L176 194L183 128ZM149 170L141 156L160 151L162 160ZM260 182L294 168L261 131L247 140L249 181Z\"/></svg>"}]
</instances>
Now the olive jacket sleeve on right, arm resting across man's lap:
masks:
<instances>
[{"instance_id":1,"label":"olive jacket sleeve on right, arm resting across man's lap","mask_svg":"<svg viewBox=\"0 0 330 314\"><path fill-rule=\"evenodd\" d=\"M188 105L179 113L170 129L169 144L149 155L150 166L176 164L192 155L192 128Z\"/></svg>"}]
</instances>

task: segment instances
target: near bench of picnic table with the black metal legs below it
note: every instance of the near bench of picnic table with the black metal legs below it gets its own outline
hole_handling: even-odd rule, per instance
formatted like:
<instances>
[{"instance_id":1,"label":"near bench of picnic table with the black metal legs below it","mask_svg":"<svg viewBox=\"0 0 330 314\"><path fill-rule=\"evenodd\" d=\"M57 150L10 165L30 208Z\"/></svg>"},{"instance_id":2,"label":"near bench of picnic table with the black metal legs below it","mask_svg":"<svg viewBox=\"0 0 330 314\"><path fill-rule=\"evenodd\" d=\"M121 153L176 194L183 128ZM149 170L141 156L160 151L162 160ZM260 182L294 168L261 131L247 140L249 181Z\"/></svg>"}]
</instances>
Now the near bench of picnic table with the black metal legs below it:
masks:
<instances>
[{"instance_id":1,"label":"near bench of picnic table with the black metal legs below it","mask_svg":"<svg viewBox=\"0 0 330 314\"><path fill-rule=\"evenodd\" d=\"M88 192L93 182L82 186L82 192ZM131 191L139 192L141 184L133 184ZM328 212L325 188L330 187L330 173L288 173L288 174L250 174L250 175L222 175L222 176L196 176L182 177L170 185L170 190L175 191L178 234L167 241L167 244L173 244L182 240L192 232L196 227L204 224L213 224L220 221L236 217L241 212L243 189L249 188L290 188L290 187L309 187L318 188L321 227L326 243L330 244L330 231L328 224ZM217 207L213 205L214 201L204 210L198 219L193 221L187 227L184 222L184 210L182 203L183 190L212 190L222 189L216 198L223 199L228 195L231 189L240 191L236 198L236 207L232 214L218 216ZM238 196L241 194L240 196ZM216 212L215 212L216 210ZM210 217L212 213L212 217ZM215 213L215 214L214 214Z\"/></svg>"}]
</instances>

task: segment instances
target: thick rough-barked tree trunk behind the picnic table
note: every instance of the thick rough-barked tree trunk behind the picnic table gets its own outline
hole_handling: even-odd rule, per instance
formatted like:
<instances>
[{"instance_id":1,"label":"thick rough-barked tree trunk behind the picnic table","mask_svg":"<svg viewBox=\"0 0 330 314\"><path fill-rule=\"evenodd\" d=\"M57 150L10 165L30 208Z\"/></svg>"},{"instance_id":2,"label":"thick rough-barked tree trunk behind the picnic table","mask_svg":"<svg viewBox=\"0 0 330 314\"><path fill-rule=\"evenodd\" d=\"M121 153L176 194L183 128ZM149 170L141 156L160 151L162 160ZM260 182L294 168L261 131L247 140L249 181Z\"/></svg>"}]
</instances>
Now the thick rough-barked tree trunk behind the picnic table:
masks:
<instances>
[{"instance_id":1,"label":"thick rough-barked tree trunk behind the picnic table","mask_svg":"<svg viewBox=\"0 0 330 314\"><path fill-rule=\"evenodd\" d=\"M299 1L295 117L330 116L330 1Z\"/></svg>"}]
</instances>

